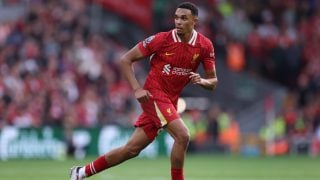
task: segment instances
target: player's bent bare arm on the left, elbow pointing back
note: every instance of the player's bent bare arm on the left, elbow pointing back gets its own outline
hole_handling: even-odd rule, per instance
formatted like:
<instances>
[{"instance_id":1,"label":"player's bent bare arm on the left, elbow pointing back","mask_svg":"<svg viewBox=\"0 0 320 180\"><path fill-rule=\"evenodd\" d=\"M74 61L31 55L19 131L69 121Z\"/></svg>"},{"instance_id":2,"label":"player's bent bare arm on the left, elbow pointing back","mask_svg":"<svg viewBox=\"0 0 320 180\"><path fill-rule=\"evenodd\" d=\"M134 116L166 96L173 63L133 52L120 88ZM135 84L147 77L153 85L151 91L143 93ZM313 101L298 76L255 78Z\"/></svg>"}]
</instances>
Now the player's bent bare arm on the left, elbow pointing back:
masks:
<instances>
[{"instance_id":1,"label":"player's bent bare arm on the left, elbow pointing back","mask_svg":"<svg viewBox=\"0 0 320 180\"><path fill-rule=\"evenodd\" d=\"M135 61L143 59L144 56L140 51L138 45L130 49L125 53L120 59L120 67L124 77L128 80L130 86L134 91L134 95L137 100L142 103L148 101L150 93L147 90L144 90L140 83L138 82L133 69L133 63Z\"/></svg>"}]
</instances>

